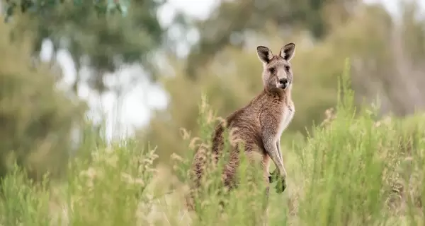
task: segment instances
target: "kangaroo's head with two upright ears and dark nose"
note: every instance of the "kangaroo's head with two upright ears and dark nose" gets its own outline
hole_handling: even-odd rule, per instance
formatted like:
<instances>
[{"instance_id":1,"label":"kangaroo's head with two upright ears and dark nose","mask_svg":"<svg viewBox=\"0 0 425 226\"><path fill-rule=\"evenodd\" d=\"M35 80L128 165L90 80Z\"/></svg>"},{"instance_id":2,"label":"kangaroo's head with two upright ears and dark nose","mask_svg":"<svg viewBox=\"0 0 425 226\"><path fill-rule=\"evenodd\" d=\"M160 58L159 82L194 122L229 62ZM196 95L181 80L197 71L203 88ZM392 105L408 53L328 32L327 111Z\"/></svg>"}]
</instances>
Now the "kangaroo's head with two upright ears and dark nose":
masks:
<instances>
[{"instance_id":1,"label":"kangaroo's head with two upright ears and dark nose","mask_svg":"<svg viewBox=\"0 0 425 226\"><path fill-rule=\"evenodd\" d=\"M293 82L290 59L295 53L295 44L285 44L279 54L273 55L268 47L257 47L257 54L263 62L263 83L266 90L280 88L285 90Z\"/></svg>"}]
</instances>

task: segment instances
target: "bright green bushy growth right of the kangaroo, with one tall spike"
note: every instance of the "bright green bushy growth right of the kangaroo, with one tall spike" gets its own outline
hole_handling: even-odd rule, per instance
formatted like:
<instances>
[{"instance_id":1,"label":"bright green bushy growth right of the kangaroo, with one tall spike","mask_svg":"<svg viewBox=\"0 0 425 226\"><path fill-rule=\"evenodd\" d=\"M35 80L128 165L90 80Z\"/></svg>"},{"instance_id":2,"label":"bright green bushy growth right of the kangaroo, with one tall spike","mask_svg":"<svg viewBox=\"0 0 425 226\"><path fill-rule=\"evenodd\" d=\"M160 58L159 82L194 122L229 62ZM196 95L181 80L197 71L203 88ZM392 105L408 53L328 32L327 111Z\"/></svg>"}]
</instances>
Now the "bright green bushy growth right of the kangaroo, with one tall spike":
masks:
<instances>
[{"instance_id":1,"label":"bright green bushy growth right of the kangaroo, with one tall spike","mask_svg":"<svg viewBox=\"0 0 425 226\"><path fill-rule=\"evenodd\" d=\"M374 121L376 112L368 109L354 118L347 85L345 80L334 120L315 128L298 150L307 179L298 208L302 225L387 225L400 224L403 218L419 225L424 117L414 118L414 126L412 119Z\"/></svg>"}]
</instances>

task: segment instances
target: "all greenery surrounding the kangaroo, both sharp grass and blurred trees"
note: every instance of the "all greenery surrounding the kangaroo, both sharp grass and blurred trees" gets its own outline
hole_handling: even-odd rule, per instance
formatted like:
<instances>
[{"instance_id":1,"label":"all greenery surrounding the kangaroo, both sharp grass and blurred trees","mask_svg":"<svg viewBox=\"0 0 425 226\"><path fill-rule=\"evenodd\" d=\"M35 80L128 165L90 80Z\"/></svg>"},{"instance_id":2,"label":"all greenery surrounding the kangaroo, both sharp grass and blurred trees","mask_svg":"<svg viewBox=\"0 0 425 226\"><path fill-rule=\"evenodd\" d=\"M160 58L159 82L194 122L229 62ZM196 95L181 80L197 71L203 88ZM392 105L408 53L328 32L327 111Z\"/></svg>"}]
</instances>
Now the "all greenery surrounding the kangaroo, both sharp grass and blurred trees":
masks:
<instances>
[{"instance_id":1,"label":"all greenery surrounding the kangaroo, both sharp grass and blurred trees","mask_svg":"<svg viewBox=\"0 0 425 226\"><path fill-rule=\"evenodd\" d=\"M1 6L13 2L29 1ZM63 1L0 23L0 225L424 225L421 1L400 1L399 17L356 0L290 1L292 11L277 0L220 1L204 19L177 13L167 26L164 2L98 16L106 1ZM199 40L177 54L191 35ZM297 112L281 138L287 190L271 186L265 216L246 162L231 193L211 168L198 213L188 213L194 150L261 90L256 45L285 42L297 43ZM64 55L71 80L55 67ZM142 70L117 73L128 66ZM123 97L142 79L169 105L135 136L108 141L84 93Z\"/></svg>"}]
</instances>

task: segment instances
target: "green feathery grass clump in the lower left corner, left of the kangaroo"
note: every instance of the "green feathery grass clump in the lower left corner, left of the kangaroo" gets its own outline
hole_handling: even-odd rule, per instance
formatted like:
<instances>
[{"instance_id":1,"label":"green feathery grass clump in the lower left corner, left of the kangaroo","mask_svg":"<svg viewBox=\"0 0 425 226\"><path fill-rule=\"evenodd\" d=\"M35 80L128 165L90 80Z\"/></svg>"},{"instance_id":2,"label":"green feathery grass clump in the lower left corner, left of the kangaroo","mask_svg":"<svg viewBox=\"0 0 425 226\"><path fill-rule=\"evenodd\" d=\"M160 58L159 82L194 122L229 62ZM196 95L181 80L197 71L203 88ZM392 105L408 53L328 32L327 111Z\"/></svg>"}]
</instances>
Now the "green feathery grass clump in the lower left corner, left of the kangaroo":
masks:
<instances>
[{"instance_id":1,"label":"green feathery grass clump in the lower left corner, left of the kangaroo","mask_svg":"<svg viewBox=\"0 0 425 226\"><path fill-rule=\"evenodd\" d=\"M154 150L144 150L135 141L113 143L91 150L90 161L69 161L67 182L48 186L47 180L33 183L25 169L14 165L1 180L0 223L145 225L153 203L147 187L156 158Z\"/></svg>"}]
</instances>

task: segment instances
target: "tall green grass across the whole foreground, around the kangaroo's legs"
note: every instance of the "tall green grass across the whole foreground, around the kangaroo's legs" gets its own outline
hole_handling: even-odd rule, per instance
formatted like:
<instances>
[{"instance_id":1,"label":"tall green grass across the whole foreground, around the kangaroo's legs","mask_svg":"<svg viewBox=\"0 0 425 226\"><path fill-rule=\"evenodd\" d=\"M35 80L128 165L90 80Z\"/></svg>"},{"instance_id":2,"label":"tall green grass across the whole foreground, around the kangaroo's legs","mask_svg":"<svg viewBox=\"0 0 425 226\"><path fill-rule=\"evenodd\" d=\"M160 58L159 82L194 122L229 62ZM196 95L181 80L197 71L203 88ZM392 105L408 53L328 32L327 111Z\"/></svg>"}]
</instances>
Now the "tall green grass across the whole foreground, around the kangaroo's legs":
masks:
<instances>
[{"instance_id":1,"label":"tall green grass across the whole foreground, around the kangaroo's legs","mask_svg":"<svg viewBox=\"0 0 425 226\"><path fill-rule=\"evenodd\" d=\"M348 70L347 70L348 71ZM339 104L306 138L282 138L288 189L271 189L269 225L424 225L425 115L377 120L375 110L353 105L348 76ZM241 186L219 193L213 169L196 204L184 204L191 155L209 145L216 119L200 105L198 137L182 130L186 155L172 167L155 166L154 149L132 139L86 145L69 162L66 182L34 184L15 167L1 181L0 225L258 225L261 187L247 165ZM254 174L255 176L255 174ZM274 188L274 186L271 186ZM168 191L173 191L169 193ZM220 201L227 208L220 208Z\"/></svg>"}]
</instances>

